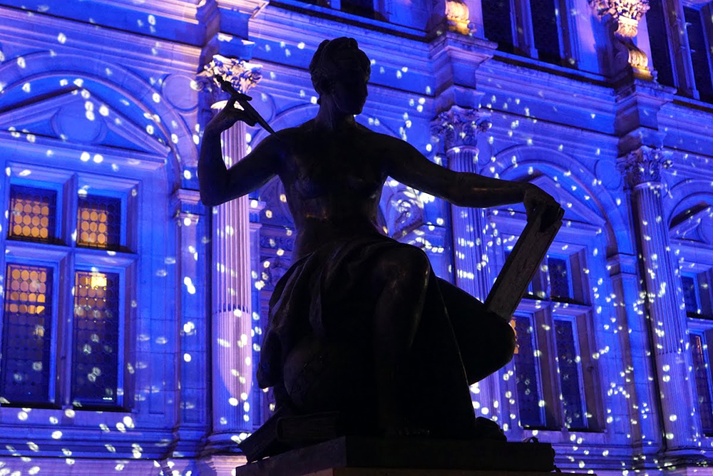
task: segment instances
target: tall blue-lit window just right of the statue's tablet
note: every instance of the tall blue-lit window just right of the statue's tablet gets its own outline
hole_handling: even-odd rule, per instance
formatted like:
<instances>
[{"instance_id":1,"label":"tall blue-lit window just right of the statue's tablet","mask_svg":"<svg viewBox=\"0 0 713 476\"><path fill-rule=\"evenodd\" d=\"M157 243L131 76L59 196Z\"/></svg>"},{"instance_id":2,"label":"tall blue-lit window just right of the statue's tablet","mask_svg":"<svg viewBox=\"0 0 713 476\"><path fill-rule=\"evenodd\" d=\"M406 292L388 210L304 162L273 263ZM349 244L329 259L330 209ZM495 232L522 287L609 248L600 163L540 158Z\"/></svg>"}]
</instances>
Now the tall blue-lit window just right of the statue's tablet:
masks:
<instances>
[{"instance_id":1,"label":"tall blue-lit window just right of the statue's tablet","mask_svg":"<svg viewBox=\"0 0 713 476\"><path fill-rule=\"evenodd\" d=\"M513 318L517 401L525 428L597 429L595 377L583 371L591 359L592 313L583 270L582 251L546 257L530 285L534 294L525 294Z\"/></svg>"}]
</instances>

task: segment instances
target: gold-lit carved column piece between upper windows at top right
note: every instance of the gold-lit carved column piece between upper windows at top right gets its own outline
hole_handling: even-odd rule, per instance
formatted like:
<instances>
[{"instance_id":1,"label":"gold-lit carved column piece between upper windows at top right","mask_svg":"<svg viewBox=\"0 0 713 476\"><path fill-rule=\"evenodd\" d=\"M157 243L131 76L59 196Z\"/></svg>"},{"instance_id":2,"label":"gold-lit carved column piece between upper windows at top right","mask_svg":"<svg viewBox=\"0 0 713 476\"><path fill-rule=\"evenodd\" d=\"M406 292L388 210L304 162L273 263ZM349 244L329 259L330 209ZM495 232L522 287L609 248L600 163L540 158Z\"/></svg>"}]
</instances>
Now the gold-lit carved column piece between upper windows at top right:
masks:
<instances>
[{"instance_id":1,"label":"gold-lit carved column piece between upper windows at top right","mask_svg":"<svg viewBox=\"0 0 713 476\"><path fill-rule=\"evenodd\" d=\"M648 0L588 0L598 19L609 24L612 34L612 76L631 71L651 81L649 58L635 45L639 21L649 9Z\"/></svg>"}]
</instances>

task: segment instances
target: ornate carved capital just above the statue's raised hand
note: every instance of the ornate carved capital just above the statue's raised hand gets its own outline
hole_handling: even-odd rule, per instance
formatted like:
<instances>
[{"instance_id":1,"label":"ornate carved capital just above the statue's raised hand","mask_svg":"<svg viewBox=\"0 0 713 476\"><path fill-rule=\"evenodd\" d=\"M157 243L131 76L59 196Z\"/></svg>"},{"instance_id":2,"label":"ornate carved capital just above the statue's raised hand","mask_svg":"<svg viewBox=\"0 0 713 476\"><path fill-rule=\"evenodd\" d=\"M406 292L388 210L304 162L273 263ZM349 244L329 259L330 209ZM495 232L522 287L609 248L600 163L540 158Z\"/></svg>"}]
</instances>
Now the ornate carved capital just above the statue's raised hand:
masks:
<instances>
[{"instance_id":1,"label":"ornate carved capital just above the statue's raised hand","mask_svg":"<svg viewBox=\"0 0 713 476\"><path fill-rule=\"evenodd\" d=\"M249 63L237 58L213 55L212 60L203 66L203 71L198 73L198 81L203 88L215 95L217 100L221 94L217 77L228 81L239 92L247 94L248 90L257 85L262 79L262 65Z\"/></svg>"}]
</instances>

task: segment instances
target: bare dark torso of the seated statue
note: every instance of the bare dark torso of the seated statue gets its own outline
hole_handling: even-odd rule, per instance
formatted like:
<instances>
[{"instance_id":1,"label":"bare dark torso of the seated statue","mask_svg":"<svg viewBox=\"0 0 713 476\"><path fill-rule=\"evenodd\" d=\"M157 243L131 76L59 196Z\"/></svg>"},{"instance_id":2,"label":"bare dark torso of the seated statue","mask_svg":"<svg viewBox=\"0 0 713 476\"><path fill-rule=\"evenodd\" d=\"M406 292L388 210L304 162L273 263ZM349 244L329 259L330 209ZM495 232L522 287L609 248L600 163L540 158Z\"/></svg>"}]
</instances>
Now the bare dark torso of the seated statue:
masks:
<instances>
[{"instance_id":1,"label":"bare dark torso of the seated statue","mask_svg":"<svg viewBox=\"0 0 713 476\"><path fill-rule=\"evenodd\" d=\"M310 123L280 138L279 177L297 228L297 257L331 239L376 232L389 138L361 126L320 132Z\"/></svg>"}]
</instances>

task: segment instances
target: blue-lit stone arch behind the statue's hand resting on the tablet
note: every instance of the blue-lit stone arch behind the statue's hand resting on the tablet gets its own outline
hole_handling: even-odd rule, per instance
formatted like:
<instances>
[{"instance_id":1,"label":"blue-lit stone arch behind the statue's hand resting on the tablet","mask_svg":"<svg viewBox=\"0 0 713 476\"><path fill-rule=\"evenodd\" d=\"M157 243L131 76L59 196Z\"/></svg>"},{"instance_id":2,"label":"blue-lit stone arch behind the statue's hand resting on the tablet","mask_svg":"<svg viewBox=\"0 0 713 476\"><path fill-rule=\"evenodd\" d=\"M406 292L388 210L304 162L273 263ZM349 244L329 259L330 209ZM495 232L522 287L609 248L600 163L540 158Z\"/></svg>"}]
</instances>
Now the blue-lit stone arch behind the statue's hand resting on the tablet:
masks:
<instances>
[{"instance_id":1,"label":"blue-lit stone arch behind the statue's hand resting on the tablet","mask_svg":"<svg viewBox=\"0 0 713 476\"><path fill-rule=\"evenodd\" d=\"M513 158L514 157L514 158ZM607 256L615 253L632 254L632 242L628 233L625 208L617 205L611 190L620 190L620 180L610 182L608 187L598 184L597 177L587 166L571 155L538 146L515 145L501 150L496 162L491 165L494 172L506 180L530 180L531 177L547 177L553 185L563 187L570 195L578 198L583 210L588 209L592 217L599 217L605 234ZM603 169L604 167L602 167ZM604 173L601 172L600 175ZM619 173L611 164L609 173ZM550 177L557 177L555 182ZM572 187L575 187L573 190ZM590 197L585 200L584 197ZM568 219L565 207L565 220Z\"/></svg>"}]
</instances>

